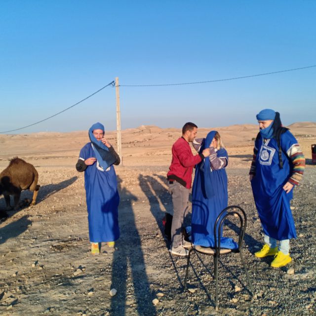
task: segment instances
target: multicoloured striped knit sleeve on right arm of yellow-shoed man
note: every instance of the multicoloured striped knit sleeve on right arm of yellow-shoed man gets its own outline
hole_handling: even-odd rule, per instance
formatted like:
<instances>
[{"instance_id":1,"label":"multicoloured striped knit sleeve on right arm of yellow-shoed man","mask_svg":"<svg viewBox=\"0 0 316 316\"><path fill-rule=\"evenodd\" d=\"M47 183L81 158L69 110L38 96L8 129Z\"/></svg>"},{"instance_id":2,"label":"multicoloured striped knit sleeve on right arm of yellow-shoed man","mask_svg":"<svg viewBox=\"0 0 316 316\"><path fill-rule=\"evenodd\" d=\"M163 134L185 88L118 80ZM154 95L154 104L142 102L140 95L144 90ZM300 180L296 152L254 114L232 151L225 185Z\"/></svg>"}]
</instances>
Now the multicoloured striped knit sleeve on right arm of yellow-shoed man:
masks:
<instances>
[{"instance_id":1,"label":"multicoloured striped knit sleeve on right arm of yellow-shoed man","mask_svg":"<svg viewBox=\"0 0 316 316\"><path fill-rule=\"evenodd\" d=\"M297 186L303 178L305 157L299 144L292 145L286 152L286 155L291 159L293 164L292 175L290 176L288 182Z\"/></svg>"}]
</instances>

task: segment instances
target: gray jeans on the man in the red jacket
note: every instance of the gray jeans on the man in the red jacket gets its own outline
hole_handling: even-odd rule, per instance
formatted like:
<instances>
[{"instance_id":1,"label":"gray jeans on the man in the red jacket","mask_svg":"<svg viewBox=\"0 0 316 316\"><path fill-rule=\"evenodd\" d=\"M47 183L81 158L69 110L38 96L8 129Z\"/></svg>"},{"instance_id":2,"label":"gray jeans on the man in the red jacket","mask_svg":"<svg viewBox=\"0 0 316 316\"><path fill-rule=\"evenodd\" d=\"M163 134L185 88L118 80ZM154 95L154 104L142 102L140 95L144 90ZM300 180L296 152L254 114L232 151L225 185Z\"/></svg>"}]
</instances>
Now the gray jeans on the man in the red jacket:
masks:
<instances>
[{"instance_id":1,"label":"gray jeans on the man in the red jacket","mask_svg":"<svg viewBox=\"0 0 316 316\"><path fill-rule=\"evenodd\" d=\"M169 192L172 195L173 218L171 226L171 247L175 248L182 245L182 225L188 211L190 190L185 188L177 181L169 184Z\"/></svg>"}]
</instances>

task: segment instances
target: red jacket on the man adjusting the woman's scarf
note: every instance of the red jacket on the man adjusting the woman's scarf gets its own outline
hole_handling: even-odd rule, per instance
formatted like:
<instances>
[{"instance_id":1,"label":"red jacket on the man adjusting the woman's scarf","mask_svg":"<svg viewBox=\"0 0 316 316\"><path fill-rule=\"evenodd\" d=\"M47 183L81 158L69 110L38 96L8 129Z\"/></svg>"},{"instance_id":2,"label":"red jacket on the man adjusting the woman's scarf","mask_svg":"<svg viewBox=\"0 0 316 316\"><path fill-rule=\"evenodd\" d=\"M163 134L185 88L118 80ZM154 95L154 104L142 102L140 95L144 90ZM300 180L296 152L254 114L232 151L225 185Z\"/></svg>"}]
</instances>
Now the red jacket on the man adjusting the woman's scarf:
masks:
<instances>
[{"instance_id":1,"label":"red jacket on the man adjusting the woman's scarf","mask_svg":"<svg viewBox=\"0 0 316 316\"><path fill-rule=\"evenodd\" d=\"M172 146L172 161L167 173L167 179L176 180L187 189L191 188L193 167L199 163L204 156L194 156L189 143L180 137Z\"/></svg>"}]
</instances>

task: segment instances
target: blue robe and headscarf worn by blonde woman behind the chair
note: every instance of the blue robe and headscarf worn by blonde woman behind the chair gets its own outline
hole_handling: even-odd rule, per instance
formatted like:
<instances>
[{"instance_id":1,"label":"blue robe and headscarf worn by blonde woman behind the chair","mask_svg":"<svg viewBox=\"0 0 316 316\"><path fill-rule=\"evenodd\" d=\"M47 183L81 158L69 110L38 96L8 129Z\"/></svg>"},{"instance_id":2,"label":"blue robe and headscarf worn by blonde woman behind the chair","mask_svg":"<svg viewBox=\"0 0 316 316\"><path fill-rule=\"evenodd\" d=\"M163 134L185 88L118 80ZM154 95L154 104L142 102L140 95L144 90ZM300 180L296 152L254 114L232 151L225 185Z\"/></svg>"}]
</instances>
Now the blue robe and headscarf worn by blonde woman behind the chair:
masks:
<instances>
[{"instance_id":1,"label":"blue robe and headscarf worn by blonde woman behind the chair","mask_svg":"<svg viewBox=\"0 0 316 316\"><path fill-rule=\"evenodd\" d=\"M208 148L216 131L211 131L203 140L200 152ZM228 160L227 151L221 148L216 152L217 157ZM209 158L196 165L196 173L192 188L192 241L202 246L214 246L214 225L217 216L227 207L227 175L225 168L211 170ZM223 214L225 216L225 214ZM222 236L222 232L221 232ZM226 238L227 239L227 238ZM231 238L230 238L231 239ZM235 248L236 243L223 239L223 247Z\"/></svg>"}]
</instances>

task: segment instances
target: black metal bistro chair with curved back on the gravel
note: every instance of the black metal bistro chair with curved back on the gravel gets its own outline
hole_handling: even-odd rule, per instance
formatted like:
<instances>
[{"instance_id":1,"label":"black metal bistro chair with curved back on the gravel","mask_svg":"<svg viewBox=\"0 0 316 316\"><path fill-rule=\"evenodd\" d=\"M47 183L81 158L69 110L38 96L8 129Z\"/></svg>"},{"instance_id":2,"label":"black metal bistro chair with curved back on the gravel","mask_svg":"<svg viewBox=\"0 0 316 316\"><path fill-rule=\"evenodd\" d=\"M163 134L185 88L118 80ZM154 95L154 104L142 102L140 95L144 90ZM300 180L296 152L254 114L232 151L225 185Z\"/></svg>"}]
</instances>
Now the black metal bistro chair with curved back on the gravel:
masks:
<instances>
[{"instance_id":1,"label":"black metal bistro chair with curved back on the gravel","mask_svg":"<svg viewBox=\"0 0 316 316\"><path fill-rule=\"evenodd\" d=\"M237 210L236 210L237 209ZM225 216L223 214L227 212ZM224 226L224 221L228 216L237 216L240 221L240 227L239 227L239 239L238 239L238 248L237 249L226 249L226 248L221 248L221 240L220 238L217 238L217 236L220 236L220 232L222 230L222 227ZM218 222L220 221L219 225ZM216 227L218 226L218 231L216 232ZM253 288L252 284L250 282L250 278L248 275L248 271L245 266L245 262L243 260L243 256L241 253L241 246L242 246L242 241L243 237L245 235L246 231L246 226L247 226L247 216L244 210L237 205L231 205L226 207L225 209L222 210L222 212L218 215L215 225L214 225L214 241L215 241L215 247L202 247L198 245L193 245L193 247L189 251L189 256L188 256L188 263L187 263L187 269L186 269L186 277L184 281L184 290L187 290L187 280L188 280L188 272L189 272L189 265L190 265L190 257L192 251L199 252L201 254L205 255L211 255L214 257L214 276L215 276L215 282L216 282L216 298L215 298L215 310L218 311L218 260L221 255L226 255L229 253L239 253L240 259L243 265L243 268L245 269L247 281L250 287L250 292L251 295L253 295Z\"/></svg>"}]
</instances>

